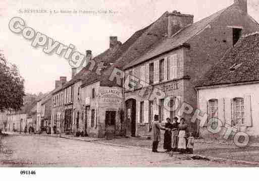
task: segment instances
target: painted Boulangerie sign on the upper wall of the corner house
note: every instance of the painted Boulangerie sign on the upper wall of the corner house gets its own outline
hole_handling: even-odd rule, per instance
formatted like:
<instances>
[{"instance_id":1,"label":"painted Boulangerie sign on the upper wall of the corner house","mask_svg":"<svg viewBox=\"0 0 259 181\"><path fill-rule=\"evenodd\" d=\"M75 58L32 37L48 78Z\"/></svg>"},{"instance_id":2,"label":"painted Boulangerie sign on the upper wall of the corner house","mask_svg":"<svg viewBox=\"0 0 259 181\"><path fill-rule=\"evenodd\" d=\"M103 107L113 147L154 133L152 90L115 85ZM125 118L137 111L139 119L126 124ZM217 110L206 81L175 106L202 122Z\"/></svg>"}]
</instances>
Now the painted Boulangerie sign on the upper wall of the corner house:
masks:
<instances>
[{"instance_id":1,"label":"painted Boulangerie sign on the upper wall of the corner house","mask_svg":"<svg viewBox=\"0 0 259 181\"><path fill-rule=\"evenodd\" d=\"M122 91L115 88L100 89L100 103L102 104L122 104Z\"/></svg>"}]
</instances>

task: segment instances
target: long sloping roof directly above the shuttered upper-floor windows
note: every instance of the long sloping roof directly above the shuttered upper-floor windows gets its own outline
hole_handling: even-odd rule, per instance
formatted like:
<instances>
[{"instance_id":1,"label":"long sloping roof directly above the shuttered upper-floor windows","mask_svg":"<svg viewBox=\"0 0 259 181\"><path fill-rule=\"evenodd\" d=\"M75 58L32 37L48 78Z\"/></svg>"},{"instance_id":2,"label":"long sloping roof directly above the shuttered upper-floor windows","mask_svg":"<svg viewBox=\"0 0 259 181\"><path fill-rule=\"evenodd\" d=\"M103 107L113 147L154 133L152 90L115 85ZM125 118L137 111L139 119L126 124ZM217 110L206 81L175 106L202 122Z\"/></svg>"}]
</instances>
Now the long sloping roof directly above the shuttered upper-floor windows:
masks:
<instances>
[{"instance_id":1,"label":"long sloping roof directly above the shuttered upper-floor windows","mask_svg":"<svg viewBox=\"0 0 259 181\"><path fill-rule=\"evenodd\" d=\"M186 27L179 30L177 33L175 33L172 37L165 37L160 42L154 44L152 47L149 48L149 51L147 51L145 54L143 54L140 58L135 59L134 62L131 64L128 64L124 67L124 69L128 69L132 66L136 66L138 64L141 64L148 59L160 55L162 53L165 53L167 51L170 51L174 48L177 48L179 46L184 45L187 43L187 41L197 35L199 32L201 32L203 29L208 27L210 23L212 23L214 20L216 20L226 9L223 9L217 13L214 13L213 15L204 18L196 23L187 25Z\"/></svg>"}]
</instances>

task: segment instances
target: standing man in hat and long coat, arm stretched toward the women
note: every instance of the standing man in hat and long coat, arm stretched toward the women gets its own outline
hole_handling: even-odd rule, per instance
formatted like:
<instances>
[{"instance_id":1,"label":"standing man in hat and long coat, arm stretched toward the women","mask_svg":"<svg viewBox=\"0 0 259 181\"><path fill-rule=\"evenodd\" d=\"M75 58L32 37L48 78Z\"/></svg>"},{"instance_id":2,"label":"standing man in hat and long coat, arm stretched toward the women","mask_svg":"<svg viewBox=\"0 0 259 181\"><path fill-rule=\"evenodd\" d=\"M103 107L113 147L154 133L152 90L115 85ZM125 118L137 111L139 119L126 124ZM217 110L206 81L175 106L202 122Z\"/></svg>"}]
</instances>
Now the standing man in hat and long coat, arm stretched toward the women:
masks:
<instances>
[{"instance_id":1,"label":"standing man in hat and long coat, arm stretched toward the women","mask_svg":"<svg viewBox=\"0 0 259 181\"><path fill-rule=\"evenodd\" d=\"M158 144L161 141L161 132L160 130L167 130L170 129L164 128L159 124L159 115L154 115L154 121L152 123L152 130L153 130L153 145L152 145L152 152L158 153Z\"/></svg>"}]
</instances>

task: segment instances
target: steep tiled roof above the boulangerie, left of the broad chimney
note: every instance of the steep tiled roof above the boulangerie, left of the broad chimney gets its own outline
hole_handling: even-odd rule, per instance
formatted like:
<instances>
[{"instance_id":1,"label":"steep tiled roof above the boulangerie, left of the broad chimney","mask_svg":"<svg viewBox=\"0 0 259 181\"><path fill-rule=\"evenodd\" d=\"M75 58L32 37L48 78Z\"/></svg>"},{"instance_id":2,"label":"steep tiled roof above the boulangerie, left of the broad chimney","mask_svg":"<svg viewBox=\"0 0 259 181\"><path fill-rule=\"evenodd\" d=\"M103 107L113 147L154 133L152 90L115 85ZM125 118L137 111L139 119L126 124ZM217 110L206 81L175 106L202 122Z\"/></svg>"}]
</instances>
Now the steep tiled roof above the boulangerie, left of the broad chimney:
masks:
<instances>
[{"instance_id":1,"label":"steep tiled roof above the boulangerie, left of the broad chimney","mask_svg":"<svg viewBox=\"0 0 259 181\"><path fill-rule=\"evenodd\" d=\"M168 26L167 14L168 12L164 13L156 22L134 33L112 56L106 57L106 61L113 63L113 65L108 65L108 68L102 71L102 76L90 73L83 84L87 85L100 80L101 86L115 85L115 82L109 81L109 76L114 68L123 69L124 66L140 57L151 46L165 37Z\"/></svg>"}]
</instances>

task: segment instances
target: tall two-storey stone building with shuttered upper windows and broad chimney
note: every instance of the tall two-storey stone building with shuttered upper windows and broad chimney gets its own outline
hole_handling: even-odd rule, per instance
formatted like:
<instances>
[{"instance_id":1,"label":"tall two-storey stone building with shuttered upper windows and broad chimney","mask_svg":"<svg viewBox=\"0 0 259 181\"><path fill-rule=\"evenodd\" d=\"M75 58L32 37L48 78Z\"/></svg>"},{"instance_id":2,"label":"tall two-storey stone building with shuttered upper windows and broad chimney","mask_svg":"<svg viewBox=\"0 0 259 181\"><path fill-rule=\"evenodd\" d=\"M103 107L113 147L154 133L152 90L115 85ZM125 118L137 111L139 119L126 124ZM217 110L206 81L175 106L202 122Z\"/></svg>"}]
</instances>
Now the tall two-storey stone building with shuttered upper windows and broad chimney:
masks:
<instances>
[{"instance_id":1,"label":"tall two-storey stone building with shuttered upper windows and broad chimney","mask_svg":"<svg viewBox=\"0 0 259 181\"><path fill-rule=\"evenodd\" d=\"M161 26L166 22L166 35L124 67L125 74L130 75L125 84L128 90L125 92L125 112L131 114L131 132L135 136L147 133L154 114L159 114L162 121L174 116L190 120L192 112L186 114L186 110L180 108L183 102L197 108L196 82L242 34L259 30L258 23L247 14L246 0L236 0L232 6L196 23L193 23L192 15L174 11L150 26L160 22ZM151 30L148 34L158 35ZM152 96L153 93L159 96ZM172 101L167 97L172 97ZM176 102L180 106L176 106ZM175 111L165 109L173 104ZM196 132L197 125L190 125L190 130Z\"/></svg>"}]
</instances>

